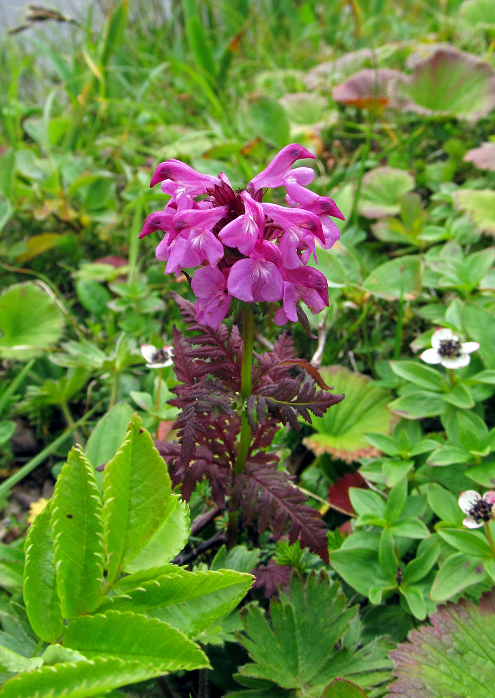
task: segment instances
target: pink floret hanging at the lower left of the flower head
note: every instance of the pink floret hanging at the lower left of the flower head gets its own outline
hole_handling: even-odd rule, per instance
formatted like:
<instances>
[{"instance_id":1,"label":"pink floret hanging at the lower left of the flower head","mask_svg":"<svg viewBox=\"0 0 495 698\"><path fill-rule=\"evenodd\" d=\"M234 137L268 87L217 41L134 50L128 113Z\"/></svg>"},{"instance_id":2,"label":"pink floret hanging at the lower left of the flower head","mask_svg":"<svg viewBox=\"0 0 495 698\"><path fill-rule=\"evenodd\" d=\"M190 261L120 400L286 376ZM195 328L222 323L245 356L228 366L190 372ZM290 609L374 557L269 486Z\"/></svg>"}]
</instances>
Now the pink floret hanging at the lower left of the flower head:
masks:
<instances>
[{"instance_id":1,"label":"pink floret hanging at the lower left of the flower head","mask_svg":"<svg viewBox=\"0 0 495 698\"><path fill-rule=\"evenodd\" d=\"M197 297L197 321L217 329L227 315L231 302L224 275L220 269L200 267L192 276L191 288Z\"/></svg>"}]
</instances>

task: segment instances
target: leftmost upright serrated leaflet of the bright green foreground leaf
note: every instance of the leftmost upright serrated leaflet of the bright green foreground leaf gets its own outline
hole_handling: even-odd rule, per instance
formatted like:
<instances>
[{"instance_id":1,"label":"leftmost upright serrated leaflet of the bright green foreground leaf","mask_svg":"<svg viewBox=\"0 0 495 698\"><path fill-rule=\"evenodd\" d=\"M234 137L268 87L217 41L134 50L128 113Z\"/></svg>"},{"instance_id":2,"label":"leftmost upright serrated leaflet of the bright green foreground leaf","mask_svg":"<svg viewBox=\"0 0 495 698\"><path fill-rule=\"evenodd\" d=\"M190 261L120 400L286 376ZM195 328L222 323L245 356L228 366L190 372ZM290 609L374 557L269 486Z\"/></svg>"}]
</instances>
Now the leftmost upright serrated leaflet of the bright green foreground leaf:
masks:
<instances>
[{"instance_id":1,"label":"leftmost upright serrated leaflet of the bright green foreground leaf","mask_svg":"<svg viewBox=\"0 0 495 698\"><path fill-rule=\"evenodd\" d=\"M54 642L63 633L52 551L50 507L36 516L27 532L24 565L24 603L34 632L45 642Z\"/></svg>"}]
</instances>

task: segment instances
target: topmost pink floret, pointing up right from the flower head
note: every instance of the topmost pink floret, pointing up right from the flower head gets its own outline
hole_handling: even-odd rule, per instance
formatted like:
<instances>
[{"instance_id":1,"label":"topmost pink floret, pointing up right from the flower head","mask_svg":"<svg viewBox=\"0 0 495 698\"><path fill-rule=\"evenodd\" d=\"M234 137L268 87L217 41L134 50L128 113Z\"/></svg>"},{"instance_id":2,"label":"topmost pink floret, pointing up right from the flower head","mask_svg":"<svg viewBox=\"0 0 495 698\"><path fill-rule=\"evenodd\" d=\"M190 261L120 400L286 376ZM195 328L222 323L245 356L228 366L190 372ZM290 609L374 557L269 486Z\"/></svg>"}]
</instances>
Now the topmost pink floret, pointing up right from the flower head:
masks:
<instances>
[{"instance_id":1,"label":"topmost pink floret, pointing up right from the flower head","mask_svg":"<svg viewBox=\"0 0 495 698\"><path fill-rule=\"evenodd\" d=\"M296 160L312 158L314 155L297 143L291 143L282 148L280 153L262 172L253 177L248 185L248 190L258 191L265 187L275 188L284 186L287 194L296 202L310 203L312 192L308 192L303 185L311 184L314 179L312 168L296 168L291 170Z\"/></svg>"}]
</instances>

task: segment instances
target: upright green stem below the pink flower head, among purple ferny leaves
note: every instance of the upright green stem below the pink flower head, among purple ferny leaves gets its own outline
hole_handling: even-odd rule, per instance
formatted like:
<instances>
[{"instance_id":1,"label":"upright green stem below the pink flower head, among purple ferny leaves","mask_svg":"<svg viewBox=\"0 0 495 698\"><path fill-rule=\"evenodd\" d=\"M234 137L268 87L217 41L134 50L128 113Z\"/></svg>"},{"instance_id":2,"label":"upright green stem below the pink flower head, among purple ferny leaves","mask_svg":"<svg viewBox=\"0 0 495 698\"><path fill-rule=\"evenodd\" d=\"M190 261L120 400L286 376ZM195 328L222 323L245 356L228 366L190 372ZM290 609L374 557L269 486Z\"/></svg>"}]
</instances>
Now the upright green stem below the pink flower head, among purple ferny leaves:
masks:
<instances>
[{"instance_id":1,"label":"upright green stem below the pink flower head, among purple ferny leaves","mask_svg":"<svg viewBox=\"0 0 495 698\"><path fill-rule=\"evenodd\" d=\"M236 475L244 472L246 459L250 445L251 428L248 417L245 413L244 403L251 394L251 372L252 372L252 351L254 344L254 319L250 306L243 309L243 355L241 359L241 400L243 401L243 412L241 414L241 434L239 436L239 446L236 463L234 465L234 480ZM239 514L232 508L229 509L229 550L237 544Z\"/></svg>"}]
</instances>

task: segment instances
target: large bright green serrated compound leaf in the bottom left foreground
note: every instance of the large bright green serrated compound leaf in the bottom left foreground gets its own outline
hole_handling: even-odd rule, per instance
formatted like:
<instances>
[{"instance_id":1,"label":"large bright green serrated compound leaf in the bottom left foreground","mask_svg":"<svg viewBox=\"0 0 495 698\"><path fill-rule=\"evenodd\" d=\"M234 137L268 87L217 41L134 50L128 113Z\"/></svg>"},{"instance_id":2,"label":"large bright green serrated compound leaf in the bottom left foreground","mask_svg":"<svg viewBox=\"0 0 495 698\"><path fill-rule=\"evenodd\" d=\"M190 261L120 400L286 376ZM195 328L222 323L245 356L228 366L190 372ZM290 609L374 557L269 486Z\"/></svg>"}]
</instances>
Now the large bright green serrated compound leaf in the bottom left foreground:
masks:
<instances>
[{"instance_id":1,"label":"large bright green serrated compound leaf in the bottom left foreground","mask_svg":"<svg viewBox=\"0 0 495 698\"><path fill-rule=\"evenodd\" d=\"M137 415L105 466L102 493L93 466L73 448L26 539L27 628L41 642L33 651L30 635L26 646L2 634L2 694L86 698L208 667L190 637L229 614L252 577L168 564L187 541L188 524L187 505L172 494L165 462ZM15 627L5 616L2 623ZM43 641L51 644L40 653Z\"/></svg>"}]
</instances>

